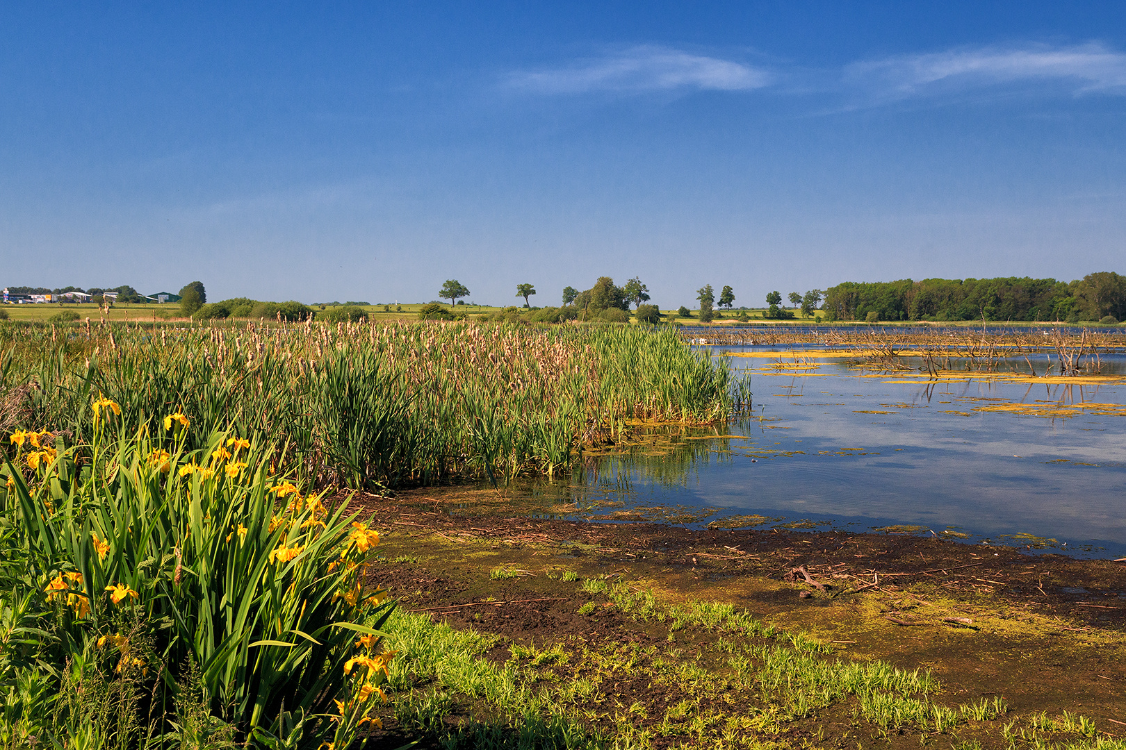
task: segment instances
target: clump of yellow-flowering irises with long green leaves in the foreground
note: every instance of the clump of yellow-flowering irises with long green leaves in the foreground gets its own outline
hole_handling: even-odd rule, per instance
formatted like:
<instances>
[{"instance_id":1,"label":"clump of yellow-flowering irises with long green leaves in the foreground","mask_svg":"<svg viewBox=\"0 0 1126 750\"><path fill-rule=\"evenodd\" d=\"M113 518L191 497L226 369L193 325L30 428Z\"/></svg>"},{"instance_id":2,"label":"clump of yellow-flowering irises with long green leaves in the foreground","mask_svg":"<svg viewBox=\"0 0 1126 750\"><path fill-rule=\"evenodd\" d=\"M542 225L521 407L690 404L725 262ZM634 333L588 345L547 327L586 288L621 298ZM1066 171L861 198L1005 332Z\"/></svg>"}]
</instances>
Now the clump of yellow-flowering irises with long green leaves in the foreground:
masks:
<instances>
[{"instance_id":1,"label":"clump of yellow-flowering irises with long green leaves in the foreground","mask_svg":"<svg viewBox=\"0 0 1126 750\"><path fill-rule=\"evenodd\" d=\"M28 632L42 640L0 644L0 665L20 649L25 670L60 676L56 693L72 669L92 686L131 680L120 689L152 696L155 716L170 681L196 683L207 712L248 737L297 723L304 738L293 739L309 747L347 747L391 658L375 629L393 604L363 587L378 534L347 501L329 509L270 477L268 451L250 441L216 432L186 451L179 413L159 437L124 437L125 413L105 398L99 408L90 445L12 435L0 528L26 564L3 578L3 598L38 613ZM52 711L65 730L99 708L61 699Z\"/></svg>"}]
</instances>

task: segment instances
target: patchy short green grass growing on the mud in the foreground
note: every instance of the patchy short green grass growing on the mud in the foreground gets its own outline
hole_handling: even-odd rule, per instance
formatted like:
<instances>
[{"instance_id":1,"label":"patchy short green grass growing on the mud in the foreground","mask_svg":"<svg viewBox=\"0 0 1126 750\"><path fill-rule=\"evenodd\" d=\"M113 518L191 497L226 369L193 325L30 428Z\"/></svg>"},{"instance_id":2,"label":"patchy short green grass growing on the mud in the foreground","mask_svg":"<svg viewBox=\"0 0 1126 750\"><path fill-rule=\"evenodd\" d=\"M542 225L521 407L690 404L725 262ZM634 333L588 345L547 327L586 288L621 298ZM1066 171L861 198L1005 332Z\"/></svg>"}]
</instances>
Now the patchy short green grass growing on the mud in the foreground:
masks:
<instances>
[{"instance_id":1,"label":"patchy short green grass growing on the mud in the foreground","mask_svg":"<svg viewBox=\"0 0 1126 750\"><path fill-rule=\"evenodd\" d=\"M967 750L1126 747L1066 712L1021 723L1003 721L1009 710L1000 697L942 705L941 686L926 670L841 659L828 644L734 607L662 604L606 578L579 590L592 597L583 605L590 612L614 606L637 622L680 623L689 638L658 645L568 636L536 647L395 613L388 642L406 657L391 672L400 725L438 747L823 747L826 728L841 720L843 735L839 724L831 731L861 747L903 733L922 747L945 738L938 747ZM490 658L502 645L509 658ZM787 730L789 740L779 741Z\"/></svg>"}]
</instances>

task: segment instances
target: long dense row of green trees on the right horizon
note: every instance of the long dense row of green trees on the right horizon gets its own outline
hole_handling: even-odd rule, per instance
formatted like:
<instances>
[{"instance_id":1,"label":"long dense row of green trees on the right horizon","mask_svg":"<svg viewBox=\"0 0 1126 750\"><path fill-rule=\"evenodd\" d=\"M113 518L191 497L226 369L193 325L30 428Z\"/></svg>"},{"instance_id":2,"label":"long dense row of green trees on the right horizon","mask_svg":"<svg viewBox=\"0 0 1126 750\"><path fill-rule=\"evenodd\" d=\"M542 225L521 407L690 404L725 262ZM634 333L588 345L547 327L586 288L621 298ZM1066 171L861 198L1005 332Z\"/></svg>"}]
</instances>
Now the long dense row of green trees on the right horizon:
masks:
<instances>
[{"instance_id":1,"label":"long dense row of green trees on the right horizon","mask_svg":"<svg viewBox=\"0 0 1126 750\"><path fill-rule=\"evenodd\" d=\"M924 279L852 282L825 291L829 320L1121 320L1126 277Z\"/></svg>"}]
</instances>

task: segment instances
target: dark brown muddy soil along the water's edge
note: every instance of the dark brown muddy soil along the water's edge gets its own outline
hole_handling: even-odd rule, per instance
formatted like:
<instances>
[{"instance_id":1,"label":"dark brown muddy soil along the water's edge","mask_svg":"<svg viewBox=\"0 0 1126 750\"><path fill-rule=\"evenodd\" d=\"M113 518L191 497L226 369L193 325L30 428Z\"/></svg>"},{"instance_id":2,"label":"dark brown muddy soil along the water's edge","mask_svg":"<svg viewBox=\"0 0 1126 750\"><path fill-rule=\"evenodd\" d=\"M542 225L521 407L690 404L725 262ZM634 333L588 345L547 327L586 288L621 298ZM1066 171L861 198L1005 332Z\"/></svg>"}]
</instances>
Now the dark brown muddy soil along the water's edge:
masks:
<instances>
[{"instance_id":1,"label":"dark brown muddy soil along the water's edge","mask_svg":"<svg viewBox=\"0 0 1126 750\"><path fill-rule=\"evenodd\" d=\"M395 499L359 495L351 507L382 535L384 563L374 576L400 606L502 636L488 654L497 661L509 658L509 643L597 649L669 639L667 626L613 607L580 614L593 597L556 575L570 570L580 579L631 581L667 603L735 604L831 642L844 658L930 669L946 705L1003 696L1012 715L1070 712L1109 735L1126 730L1121 561L912 534L536 518L519 500L489 489L430 488ZM495 580L490 571L498 567L519 572ZM709 639L694 634L687 648L703 649ZM615 692L625 706L676 697L654 695L643 677ZM826 742L843 747L846 716L830 708L817 722ZM797 744L813 731L795 724L778 741ZM390 720L387 742L404 737ZM883 741L918 747L919 738Z\"/></svg>"}]
</instances>

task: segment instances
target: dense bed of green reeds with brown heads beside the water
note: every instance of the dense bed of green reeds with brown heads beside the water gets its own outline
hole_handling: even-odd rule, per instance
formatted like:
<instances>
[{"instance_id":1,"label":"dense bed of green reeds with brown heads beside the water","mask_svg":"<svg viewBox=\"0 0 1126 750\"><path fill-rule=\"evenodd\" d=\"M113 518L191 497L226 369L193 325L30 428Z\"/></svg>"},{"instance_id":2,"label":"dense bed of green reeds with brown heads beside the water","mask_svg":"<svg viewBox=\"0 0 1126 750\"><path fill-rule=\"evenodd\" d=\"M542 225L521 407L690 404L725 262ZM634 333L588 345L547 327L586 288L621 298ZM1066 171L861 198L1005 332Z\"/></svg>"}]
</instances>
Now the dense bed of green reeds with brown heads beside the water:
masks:
<instances>
[{"instance_id":1,"label":"dense bed of green reeds with brown heads beside the water","mask_svg":"<svg viewBox=\"0 0 1126 750\"><path fill-rule=\"evenodd\" d=\"M129 430L181 412L190 450L233 430L302 481L375 489L554 475L638 422L750 406L724 358L635 326L0 327L0 430L90 442L98 396Z\"/></svg>"}]
</instances>

